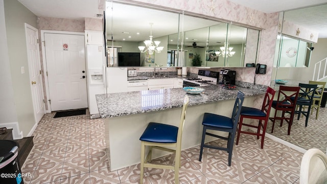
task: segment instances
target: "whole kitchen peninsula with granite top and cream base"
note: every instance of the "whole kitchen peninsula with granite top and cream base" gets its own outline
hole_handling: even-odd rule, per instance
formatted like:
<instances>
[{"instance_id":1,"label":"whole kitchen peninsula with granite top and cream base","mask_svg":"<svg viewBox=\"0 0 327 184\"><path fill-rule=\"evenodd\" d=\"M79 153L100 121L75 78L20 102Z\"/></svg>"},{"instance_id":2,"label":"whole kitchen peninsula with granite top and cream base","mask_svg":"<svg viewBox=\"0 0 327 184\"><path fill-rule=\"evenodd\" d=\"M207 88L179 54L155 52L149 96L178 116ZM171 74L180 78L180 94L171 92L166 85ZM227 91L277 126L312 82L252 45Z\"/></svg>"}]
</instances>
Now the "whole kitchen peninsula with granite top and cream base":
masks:
<instances>
[{"instance_id":1,"label":"whole kitchen peninsula with granite top and cream base","mask_svg":"<svg viewBox=\"0 0 327 184\"><path fill-rule=\"evenodd\" d=\"M182 88L96 95L100 117L104 118L105 123L106 150L111 171L140 162L139 137L149 122L178 125L184 95L189 96L190 102L182 135L182 149L200 144L204 112L231 116L238 90L245 94L245 106L252 106L255 96L265 94L265 90L242 87L228 90L212 84L203 88L204 92L199 95L186 94ZM165 154L168 152L153 152L153 158Z\"/></svg>"}]
</instances>

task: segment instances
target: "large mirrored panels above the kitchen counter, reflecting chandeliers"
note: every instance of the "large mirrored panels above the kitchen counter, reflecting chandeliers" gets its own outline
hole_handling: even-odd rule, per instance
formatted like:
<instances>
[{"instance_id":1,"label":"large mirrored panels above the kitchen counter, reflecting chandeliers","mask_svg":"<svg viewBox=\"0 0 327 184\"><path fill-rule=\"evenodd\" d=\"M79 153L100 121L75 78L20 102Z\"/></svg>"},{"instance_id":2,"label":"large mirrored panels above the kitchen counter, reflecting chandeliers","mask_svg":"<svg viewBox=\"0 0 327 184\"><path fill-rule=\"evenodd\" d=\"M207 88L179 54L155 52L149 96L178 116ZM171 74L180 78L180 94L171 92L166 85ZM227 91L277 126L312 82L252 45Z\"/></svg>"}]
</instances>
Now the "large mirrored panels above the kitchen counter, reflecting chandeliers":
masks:
<instances>
[{"instance_id":1,"label":"large mirrored panels above the kitchen counter, reflecting chandeliers","mask_svg":"<svg viewBox=\"0 0 327 184\"><path fill-rule=\"evenodd\" d=\"M260 30L157 7L116 2L106 7L108 66L120 66L118 53L140 53L139 66L256 63Z\"/></svg>"}]
</instances>

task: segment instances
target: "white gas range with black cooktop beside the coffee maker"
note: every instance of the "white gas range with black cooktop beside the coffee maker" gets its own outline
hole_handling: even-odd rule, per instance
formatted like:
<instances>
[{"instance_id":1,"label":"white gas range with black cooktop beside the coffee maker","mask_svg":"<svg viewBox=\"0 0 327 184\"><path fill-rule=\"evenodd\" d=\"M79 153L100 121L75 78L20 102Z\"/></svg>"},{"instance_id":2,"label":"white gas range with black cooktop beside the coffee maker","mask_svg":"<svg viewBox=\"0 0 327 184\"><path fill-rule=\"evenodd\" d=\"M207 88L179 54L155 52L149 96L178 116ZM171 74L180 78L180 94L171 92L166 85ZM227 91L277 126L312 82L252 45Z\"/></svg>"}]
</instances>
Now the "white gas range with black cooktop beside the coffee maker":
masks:
<instances>
[{"instance_id":1,"label":"white gas range with black cooktop beside the coffee maker","mask_svg":"<svg viewBox=\"0 0 327 184\"><path fill-rule=\"evenodd\" d=\"M219 72L199 70L197 78L186 78L183 80L183 87L217 84L218 76Z\"/></svg>"}]
</instances>

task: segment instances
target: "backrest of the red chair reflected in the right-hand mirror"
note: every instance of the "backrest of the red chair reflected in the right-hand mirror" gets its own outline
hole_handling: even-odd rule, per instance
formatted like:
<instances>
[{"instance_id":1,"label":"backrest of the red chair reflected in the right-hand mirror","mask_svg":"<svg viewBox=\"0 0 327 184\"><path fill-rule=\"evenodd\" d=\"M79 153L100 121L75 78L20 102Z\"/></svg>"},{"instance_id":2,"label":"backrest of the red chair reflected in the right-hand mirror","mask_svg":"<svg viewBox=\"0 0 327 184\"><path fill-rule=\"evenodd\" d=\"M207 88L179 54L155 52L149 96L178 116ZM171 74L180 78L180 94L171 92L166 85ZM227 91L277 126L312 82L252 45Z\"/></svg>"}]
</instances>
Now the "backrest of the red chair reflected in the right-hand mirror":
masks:
<instances>
[{"instance_id":1,"label":"backrest of the red chair reflected in the right-hand mirror","mask_svg":"<svg viewBox=\"0 0 327 184\"><path fill-rule=\"evenodd\" d=\"M296 106L299 90L300 87L279 86L276 108L279 110L293 111Z\"/></svg>"}]
</instances>

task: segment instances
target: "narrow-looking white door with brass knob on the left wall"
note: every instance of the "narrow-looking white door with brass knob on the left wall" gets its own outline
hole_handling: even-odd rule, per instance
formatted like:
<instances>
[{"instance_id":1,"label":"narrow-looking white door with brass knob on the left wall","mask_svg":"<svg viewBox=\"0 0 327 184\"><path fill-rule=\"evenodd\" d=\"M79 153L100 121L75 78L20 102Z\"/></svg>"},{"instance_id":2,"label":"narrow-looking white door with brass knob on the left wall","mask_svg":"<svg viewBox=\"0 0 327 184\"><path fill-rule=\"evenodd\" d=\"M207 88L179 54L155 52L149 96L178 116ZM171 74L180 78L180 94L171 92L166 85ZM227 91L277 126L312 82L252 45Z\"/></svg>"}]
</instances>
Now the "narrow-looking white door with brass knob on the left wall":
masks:
<instances>
[{"instance_id":1,"label":"narrow-looking white door with brass knob on the left wall","mask_svg":"<svg viewBox=\"0 0 327 184\"><path fill-rule=\"evenodd\" d=\"M39 38L37 29L28 24L25 24L25 32L34 117L35 123L38 123L45 113L40 50L38 44Z\"/></svg>"}]
</instances>

